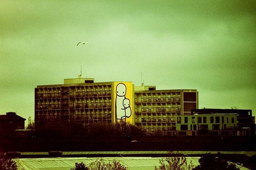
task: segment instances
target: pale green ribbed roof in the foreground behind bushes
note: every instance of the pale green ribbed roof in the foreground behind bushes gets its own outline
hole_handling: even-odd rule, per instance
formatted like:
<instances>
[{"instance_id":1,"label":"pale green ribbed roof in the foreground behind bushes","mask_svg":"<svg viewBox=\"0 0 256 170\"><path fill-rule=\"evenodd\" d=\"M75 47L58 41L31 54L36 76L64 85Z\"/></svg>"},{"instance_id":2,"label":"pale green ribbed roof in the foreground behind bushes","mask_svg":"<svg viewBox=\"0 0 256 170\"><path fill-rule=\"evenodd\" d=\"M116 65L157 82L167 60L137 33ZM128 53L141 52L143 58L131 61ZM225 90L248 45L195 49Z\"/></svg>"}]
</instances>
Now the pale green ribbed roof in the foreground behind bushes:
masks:
<instances>
[{"instance_id":1,"label":"pale green ribbed roof in the foreground behind bushes","mask_svg":"<svg viewBox=\"0 0 256 170\"><path fill-rule=\"evenodd\" d=\"M13 159L18 170L70 170L74 168L75 163L84 162L88 165L100 158L19 158ZM129 170L154 170L155 166L160 166L159 160L162 158L152 157L105 157L101 158L104 162L112 162L118 160L121 164L126 166ZM192 161L194 166L198 166L200 157L186 157L187 162ZM240 170L247 170L247 168L240 167Z\"/></svg>"}]
</instances>

